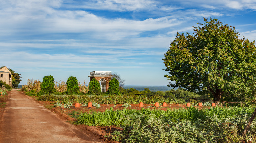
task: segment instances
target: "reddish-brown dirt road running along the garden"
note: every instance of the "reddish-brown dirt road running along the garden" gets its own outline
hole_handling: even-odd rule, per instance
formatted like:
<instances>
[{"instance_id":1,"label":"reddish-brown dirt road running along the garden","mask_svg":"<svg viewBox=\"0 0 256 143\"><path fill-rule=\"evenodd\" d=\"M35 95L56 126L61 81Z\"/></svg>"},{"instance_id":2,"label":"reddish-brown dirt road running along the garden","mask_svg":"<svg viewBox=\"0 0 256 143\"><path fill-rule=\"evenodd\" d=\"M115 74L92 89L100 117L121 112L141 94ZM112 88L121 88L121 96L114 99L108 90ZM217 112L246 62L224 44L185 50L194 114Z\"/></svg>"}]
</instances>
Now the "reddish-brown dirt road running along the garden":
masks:
<instances>
[{"instance_id":1,"label":"reddish-brown dirt road running along the garden","mask_svg":"<svg viewBox=\"0 0 256 143\"><path fill-rule=\"evenodd\" d=\"M0 143L8 142L96 143L102 140L66 123L22 92L12 90L0 122Z\"/></svg>"}]
</instances>

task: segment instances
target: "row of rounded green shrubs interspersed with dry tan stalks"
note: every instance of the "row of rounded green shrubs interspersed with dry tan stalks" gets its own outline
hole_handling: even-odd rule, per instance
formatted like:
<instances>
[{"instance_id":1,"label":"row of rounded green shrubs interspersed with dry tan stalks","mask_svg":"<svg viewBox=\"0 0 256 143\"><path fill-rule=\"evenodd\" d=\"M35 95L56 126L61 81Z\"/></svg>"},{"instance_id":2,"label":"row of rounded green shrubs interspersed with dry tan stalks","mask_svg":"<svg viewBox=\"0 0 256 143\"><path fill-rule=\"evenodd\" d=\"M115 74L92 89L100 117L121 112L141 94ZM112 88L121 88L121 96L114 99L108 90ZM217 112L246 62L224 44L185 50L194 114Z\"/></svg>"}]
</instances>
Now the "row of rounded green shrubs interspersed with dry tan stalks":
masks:
<instances>
[{"instance_id":1,"label":"row of rounded green shrubs interspersed with dry tan stalks","mask_svg":"<svg viewBox=\"0 0 256 143\"><path fill-rule=\"evenodd\" d=\"M106 94L111 95L121 95L120 90L118 89L119 82L117 79L112 78L109 82L109 88ZM93 95L101 95L101 87L99 81L95 78L92 79L89 83L89 86L81 84L78 82L77 78L71 76L67 79L65 84L64 81L60 81L59 83L54 83L53 76L44 76L43 81L39 80L28 80L27 85L22 86L22 91L25 91L29 96L41 96L43 94L68 94L68 95L85 95L93 94Z\"/></svg>"}]
</instances>

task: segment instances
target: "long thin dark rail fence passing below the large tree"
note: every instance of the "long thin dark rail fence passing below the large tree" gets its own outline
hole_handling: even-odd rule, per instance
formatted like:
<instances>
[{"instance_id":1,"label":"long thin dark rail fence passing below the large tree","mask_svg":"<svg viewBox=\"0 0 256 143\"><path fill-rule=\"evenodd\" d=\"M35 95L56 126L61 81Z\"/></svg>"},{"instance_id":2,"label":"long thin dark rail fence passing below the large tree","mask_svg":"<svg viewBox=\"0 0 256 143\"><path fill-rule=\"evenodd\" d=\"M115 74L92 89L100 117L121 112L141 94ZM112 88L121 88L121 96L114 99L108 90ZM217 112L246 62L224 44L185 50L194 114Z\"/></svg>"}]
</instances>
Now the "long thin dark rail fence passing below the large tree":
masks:
<instances>
[{"instance_id":1,"label":"long thin dark rail fence passing below the large tree","mask_svg":"<svg viewBox=\"0 0 256 143\"><path fill-rule=\"evenodd\" d=\"M150 97L150 96L155 96L155 95L148 95L148 94L130 94L130 93L122 93L123 95L127 95L127 96L129 96L129 95L139 95L139 96L142 96L142 95L145 95L145 96L147 96L147 97ZM160 96L162 96L162 95L160 95ZM162 97L168 97L168 98L173 98L174 96L162 96ZM194 103L195 102L198 102L198 100L199 101L201 101L202 103L203 102L205 102L205 101L212 101L212 103L221 103L221 105L220 106L224 106L224 103L238 103L238 104L241 104L241 107L243 107L243 104L255 104L255 103L247 103L247 102L229 102L229 101L222 101L222 100L213 100L213 99L203 99L203 98L192 98L192 97L178 97L178 96L176 96L177 98L183 98L183 99L189 99L189 102L190 102L190 100L191 99L193 99L194 100Z\"/></svg>"}]
</instances>

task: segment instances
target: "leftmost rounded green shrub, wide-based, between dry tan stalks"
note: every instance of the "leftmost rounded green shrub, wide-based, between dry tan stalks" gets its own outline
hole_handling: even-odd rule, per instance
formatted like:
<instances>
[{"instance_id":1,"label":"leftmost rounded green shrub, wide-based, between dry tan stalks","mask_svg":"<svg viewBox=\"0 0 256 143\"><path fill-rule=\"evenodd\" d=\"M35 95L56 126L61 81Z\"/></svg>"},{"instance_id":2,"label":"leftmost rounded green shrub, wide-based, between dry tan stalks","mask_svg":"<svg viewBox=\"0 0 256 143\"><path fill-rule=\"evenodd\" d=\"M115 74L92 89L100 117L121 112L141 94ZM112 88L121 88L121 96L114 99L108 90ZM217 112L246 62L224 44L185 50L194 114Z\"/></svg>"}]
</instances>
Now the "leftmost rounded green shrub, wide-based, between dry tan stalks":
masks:
<instances>
[{"instance_id":1,"label":"leftmost rounded green shrub, wide-based, between dry tan stalks","mask_svg":"<svg viewBox=\"0 0 256 143\"><path fill-rule=\"evenodd\" d=\"M41 83L41 90L38 94L56 94L57 92L54 85L54 78L52 75L44 76L43 82Z\"/></svg>"}]
</instances>

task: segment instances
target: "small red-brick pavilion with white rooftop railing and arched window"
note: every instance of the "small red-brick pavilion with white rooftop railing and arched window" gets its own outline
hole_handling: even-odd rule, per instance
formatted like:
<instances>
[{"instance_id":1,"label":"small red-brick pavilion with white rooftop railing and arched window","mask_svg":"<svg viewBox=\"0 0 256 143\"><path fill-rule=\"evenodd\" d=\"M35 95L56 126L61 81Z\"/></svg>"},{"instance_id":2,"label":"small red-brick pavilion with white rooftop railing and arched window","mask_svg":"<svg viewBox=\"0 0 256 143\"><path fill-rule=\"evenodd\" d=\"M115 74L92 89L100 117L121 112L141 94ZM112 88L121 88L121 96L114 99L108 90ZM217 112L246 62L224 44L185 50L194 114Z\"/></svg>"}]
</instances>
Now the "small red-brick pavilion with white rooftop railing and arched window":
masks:
<instances>
[{"instance_id":1,"label":"small red-brick pavilion with white rooftop railing and arched window","mask_svg":"<svg viewBox=\"0 0 256 143\"><path fill-rule=\"evenodd\" d=\"M99 81L101 91L107 92L108 91L108 83L110 82L112 75L111 71L92 71L90 72L90 81L95 78L97 81Z\"/></svg>"}]
</instances>

